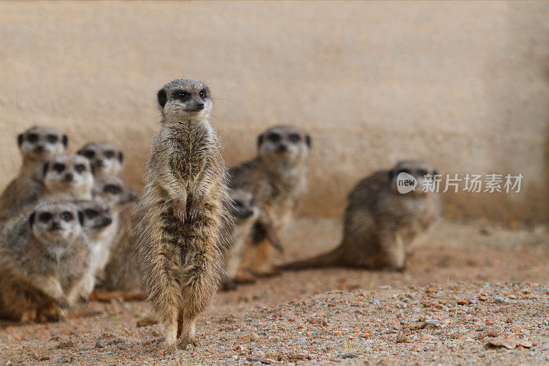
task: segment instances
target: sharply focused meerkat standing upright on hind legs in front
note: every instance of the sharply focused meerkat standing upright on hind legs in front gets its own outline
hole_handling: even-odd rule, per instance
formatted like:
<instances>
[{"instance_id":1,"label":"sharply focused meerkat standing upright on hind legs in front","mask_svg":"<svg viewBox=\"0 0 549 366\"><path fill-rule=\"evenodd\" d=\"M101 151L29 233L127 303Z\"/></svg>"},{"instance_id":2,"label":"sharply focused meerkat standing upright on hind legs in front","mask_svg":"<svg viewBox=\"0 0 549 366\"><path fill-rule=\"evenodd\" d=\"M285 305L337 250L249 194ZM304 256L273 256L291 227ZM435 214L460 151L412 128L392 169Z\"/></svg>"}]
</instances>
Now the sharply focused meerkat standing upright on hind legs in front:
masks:
<instances>
[{"instance_id":1,"label":"sharply focused meerkat standing upright on hind legs in front","mask_svg":"<svg viewBox=\"0 0 549 366\"><path fill-rule=\"evenodd\" d=\"M139 260L151 308L165 326L165 350L198 345L198 315L215 300L220 251L229 227L229 190L212 100L198 80L174 80L158 92L161 128L152 142L138 232Z\"/></svg>"}]
</instances>

